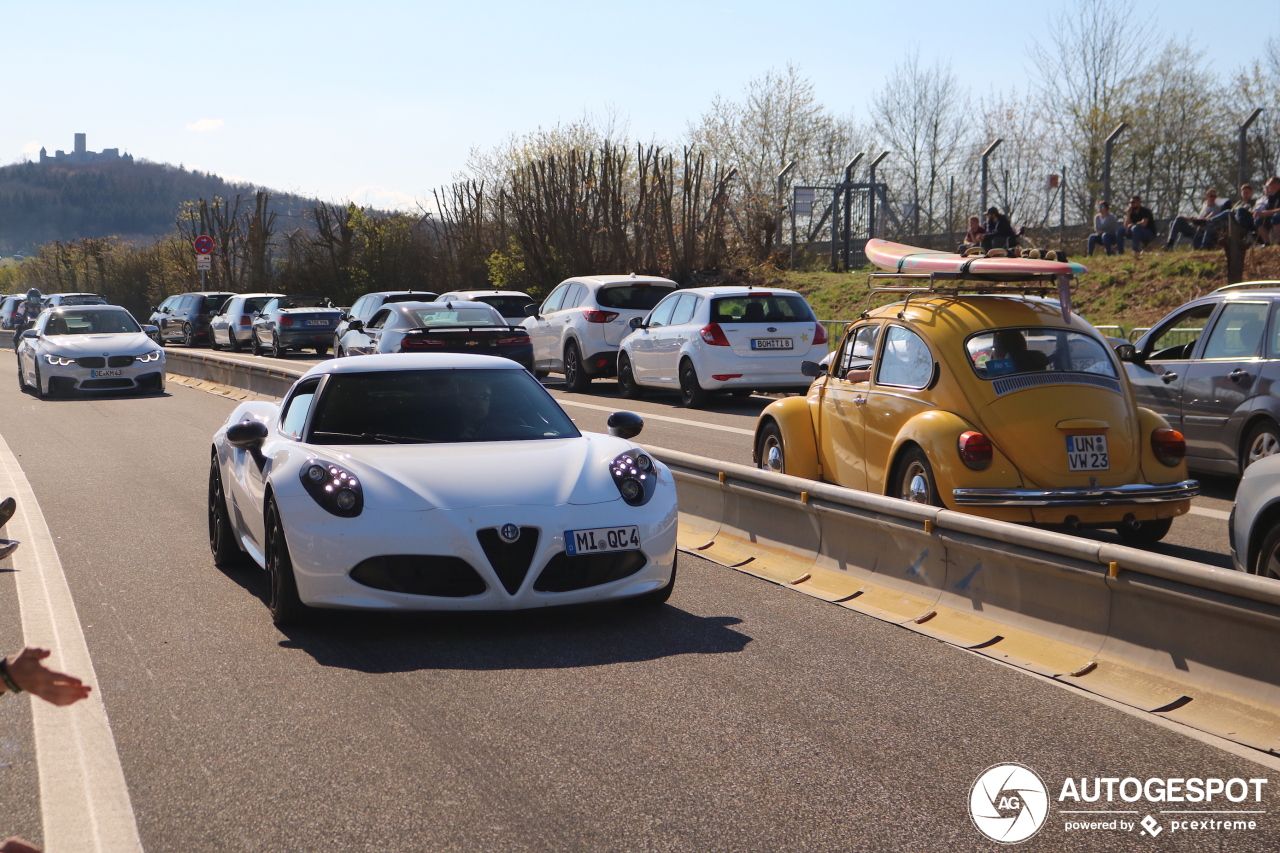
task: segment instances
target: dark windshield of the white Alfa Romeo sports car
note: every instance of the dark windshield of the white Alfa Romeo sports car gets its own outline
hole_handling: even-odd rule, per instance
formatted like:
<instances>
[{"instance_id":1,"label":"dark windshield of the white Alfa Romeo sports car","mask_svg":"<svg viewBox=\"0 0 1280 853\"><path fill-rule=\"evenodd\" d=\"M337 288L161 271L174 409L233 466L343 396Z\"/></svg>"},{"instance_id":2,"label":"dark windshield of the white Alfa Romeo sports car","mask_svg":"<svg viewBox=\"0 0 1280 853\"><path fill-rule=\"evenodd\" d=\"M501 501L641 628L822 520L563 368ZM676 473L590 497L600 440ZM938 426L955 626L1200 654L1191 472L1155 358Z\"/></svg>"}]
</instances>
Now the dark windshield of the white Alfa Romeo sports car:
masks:
<instances>
[{"instance_id":1,"label":"dark windshield of the white Alfa Romeo sports car","mask_svg":"<svg viewBox=\"0 0 1280 853\"><path fill-rule=\"evenodd\" d=\"M335 373L311 423L315 444L426 444L577 438L525 370Z\"/></svg>"}]
</instances>

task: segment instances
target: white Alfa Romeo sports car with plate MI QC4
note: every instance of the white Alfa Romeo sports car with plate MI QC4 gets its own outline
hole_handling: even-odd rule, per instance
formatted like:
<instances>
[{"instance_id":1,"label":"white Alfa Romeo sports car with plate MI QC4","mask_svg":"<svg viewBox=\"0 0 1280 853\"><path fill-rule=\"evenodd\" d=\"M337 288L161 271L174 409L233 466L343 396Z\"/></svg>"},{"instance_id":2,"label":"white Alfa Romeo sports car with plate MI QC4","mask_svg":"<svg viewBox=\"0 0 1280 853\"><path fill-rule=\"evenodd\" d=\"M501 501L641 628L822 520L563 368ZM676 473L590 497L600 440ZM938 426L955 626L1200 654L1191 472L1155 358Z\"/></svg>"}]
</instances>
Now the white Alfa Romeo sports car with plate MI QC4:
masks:
<instances>
[{"instance_id":1,"label":"white Alfa Romeo sports car with plate MI QC4","mask_svg":"<svg viewBox=\"0 0 1280 853\"><path fill-rule=\"evenodd\" d=\"M310 608L660 603L676 488L628 439L580 433L507 359L371 355L308 370L214 434L214 560L265 569L276 624Z\"/></svg>"}]
</instances>

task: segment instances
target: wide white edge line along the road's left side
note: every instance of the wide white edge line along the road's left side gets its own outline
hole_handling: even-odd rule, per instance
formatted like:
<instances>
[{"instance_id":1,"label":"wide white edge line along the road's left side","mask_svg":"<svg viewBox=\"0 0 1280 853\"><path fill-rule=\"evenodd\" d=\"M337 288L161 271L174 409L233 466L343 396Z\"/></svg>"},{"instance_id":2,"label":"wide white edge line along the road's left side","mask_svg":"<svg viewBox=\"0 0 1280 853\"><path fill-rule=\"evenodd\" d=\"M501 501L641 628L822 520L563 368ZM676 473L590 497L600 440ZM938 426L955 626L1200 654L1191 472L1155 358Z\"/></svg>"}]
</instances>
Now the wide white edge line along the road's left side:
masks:
<instances>
[{"instance_id":1,"label":"wide white edge line along the road's left side","mask_svg":"<svg viewBox=\"0 0 1280 853\"><path fill-rule=\"evenodd\" d=\"M76 602L36 493L3 437L0 494L18 501L18 511L9 520L6 533L22 542L12 560L18 570L14 578L23 640L27 646L50 649L50 667L93 685L87 699L67 708L31 699L44 849L46 853L141 853L142 840L129 789Z\"/></svg>"}]
</instances>

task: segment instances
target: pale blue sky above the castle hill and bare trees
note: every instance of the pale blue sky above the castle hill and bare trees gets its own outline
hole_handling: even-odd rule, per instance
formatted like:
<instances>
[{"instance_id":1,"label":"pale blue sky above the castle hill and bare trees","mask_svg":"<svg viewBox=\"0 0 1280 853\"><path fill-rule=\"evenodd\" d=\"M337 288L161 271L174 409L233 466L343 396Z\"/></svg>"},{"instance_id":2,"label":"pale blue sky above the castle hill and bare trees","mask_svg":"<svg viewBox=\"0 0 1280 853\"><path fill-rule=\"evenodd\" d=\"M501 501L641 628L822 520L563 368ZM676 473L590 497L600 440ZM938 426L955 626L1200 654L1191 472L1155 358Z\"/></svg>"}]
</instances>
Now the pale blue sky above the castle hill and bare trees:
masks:
<instances>
[{"instance_id":1,"label":"pale blue sky above the castle hill and bare trees","mask_svg":"<svg viewBox=\"0 0 1280 853\"><path fill-rule=\"evenodd\" d=\"M1156 26L1153 49L1188 36L1222 73L1280 35L1275 4L1133 5ZM472 147L585 111L616 111L634 138L678 141L717 92L736 96L787 61L828 109L859 118L911 47L950 59L975 93L1025 87L1028 49L1061 0L995 8L0 0L0 163L87 132L91 150L396 206L448 183Z\"/></svg>"}]
</instances>

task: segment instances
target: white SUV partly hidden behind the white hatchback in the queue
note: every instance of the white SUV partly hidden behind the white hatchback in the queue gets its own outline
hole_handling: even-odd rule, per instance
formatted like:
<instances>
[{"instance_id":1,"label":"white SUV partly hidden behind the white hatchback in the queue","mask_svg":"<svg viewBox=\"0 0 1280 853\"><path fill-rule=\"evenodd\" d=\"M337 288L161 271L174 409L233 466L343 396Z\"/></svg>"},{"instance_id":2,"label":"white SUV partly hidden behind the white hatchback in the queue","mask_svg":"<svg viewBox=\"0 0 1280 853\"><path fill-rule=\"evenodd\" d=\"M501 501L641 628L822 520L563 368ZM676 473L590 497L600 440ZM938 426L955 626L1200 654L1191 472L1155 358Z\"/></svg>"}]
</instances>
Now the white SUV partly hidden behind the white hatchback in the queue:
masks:
<instances>
[{"instance_id":1,"label":"white SUV partly hidden behind the white hatchback in the queue","mask_svg":"<svg viewBox=\"0 0 1280 853\"><path fill-rule=\"evenodd\" d=\"M552 291L524 327L534 343L534 374L564 374L568 391L617 375L618 345L676 283L649 275L581 275Z\"/></svg>"}]
</instances>

